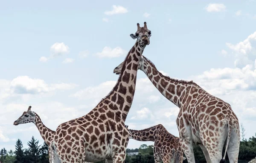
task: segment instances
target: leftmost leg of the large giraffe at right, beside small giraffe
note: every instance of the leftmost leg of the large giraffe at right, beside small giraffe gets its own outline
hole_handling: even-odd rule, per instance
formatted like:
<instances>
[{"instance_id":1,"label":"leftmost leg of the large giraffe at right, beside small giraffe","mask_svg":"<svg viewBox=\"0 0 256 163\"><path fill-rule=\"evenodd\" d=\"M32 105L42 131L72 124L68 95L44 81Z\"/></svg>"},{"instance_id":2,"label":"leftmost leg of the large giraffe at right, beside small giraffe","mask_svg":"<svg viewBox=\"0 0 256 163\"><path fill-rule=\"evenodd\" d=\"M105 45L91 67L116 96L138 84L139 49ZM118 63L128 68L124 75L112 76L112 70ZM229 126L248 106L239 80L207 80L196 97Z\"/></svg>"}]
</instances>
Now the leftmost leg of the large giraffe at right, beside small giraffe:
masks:
<instances>
[{"instance_id":1,"label":"leftmost leg of the large giraffe at right, beside small giraffe","mask_svg":"<svg viewBox=\"0 0 256 163\"><path fill-rule=\"evenodd\" d=\"M183 119L180 119L180 121L183 121ZM182 123L184 124L184 121ZM186 155L188 163L195 163L191 131L192 130L190 126L183 126L183 128L179 129L180 146Z\"/></svg>"}]
</instances>

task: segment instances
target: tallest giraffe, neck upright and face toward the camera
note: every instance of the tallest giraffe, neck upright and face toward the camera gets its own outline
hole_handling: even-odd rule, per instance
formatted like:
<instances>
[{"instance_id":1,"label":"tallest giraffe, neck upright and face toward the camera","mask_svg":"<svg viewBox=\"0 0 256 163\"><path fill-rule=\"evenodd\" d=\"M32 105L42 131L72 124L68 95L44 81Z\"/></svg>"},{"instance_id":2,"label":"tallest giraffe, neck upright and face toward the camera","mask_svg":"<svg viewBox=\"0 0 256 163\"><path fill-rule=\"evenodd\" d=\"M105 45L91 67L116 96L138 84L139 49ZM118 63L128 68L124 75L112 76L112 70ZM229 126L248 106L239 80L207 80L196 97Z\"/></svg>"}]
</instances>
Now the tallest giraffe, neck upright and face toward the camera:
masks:
<instances>
[{"instance_id":1,"label":"tallest giraffe, neck upright and face toward the camera","mask_svg":"<svg viewBox=\"0 0 256 163\"><path fill-rule=\"evenodd\" d=\"M97 162L124 163L129 141L125 119L134 98L137 68L151 31L137 23L137 38L128 52L116 86L88 114L62 123L56 129L49 146L54 163Z\"/></svg>"}]
</instances>

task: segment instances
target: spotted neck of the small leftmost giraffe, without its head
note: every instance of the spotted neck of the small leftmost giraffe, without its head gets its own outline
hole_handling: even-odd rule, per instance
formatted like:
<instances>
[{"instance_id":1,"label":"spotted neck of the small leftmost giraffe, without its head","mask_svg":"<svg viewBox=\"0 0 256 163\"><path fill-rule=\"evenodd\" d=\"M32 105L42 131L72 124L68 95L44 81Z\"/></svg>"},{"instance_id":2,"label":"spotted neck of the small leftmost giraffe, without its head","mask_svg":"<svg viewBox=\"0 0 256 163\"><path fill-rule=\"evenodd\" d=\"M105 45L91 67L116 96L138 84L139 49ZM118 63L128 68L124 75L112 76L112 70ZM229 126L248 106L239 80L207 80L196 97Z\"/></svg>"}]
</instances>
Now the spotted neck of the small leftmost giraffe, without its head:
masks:
<instances>
[{"instance_id":1,"label":"spotted neck of the small leftmost giraffe, without its head","mask_svg":"<svg viewBox=\"0 0 256 163\"><path fill-rule=\"evenodd\" d=\"M38 131L40 132L41 137L44 139L44 142L47 143L47 145L49 146L51 137L55 132L47 128L44 125L44 123L41 121L41 118L36 113L35 113L35 120L33 121L33 123L38 128Z\"/></svg>"}]
</instances>

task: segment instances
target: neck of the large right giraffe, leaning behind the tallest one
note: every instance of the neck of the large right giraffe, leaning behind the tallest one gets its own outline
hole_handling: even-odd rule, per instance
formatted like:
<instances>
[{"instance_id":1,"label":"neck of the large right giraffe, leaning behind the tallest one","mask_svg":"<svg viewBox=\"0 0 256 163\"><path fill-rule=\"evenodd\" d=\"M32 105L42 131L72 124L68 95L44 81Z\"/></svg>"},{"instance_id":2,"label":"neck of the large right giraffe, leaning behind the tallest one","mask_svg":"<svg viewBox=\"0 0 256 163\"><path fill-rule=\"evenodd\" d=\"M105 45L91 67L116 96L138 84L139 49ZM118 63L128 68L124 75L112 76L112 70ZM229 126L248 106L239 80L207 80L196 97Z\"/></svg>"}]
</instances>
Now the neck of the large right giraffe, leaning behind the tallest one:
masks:
<instances>
[{"instance_id":1,"label":"neck of the large right giraffe, leaning behind the tallest one","mask_svg":"<svg viewBox=\"0 0 256 163\"><path fill-rule=\"evenodd\" d=\"M172 79L163 75L157 70L154 64L146 57L142 56L140 59L139 69L142 70L158 91L163 94L169 101L174 103L179 108L182 106L183 100L193 81L184 81Z\"/></svg>"}]
</instances>

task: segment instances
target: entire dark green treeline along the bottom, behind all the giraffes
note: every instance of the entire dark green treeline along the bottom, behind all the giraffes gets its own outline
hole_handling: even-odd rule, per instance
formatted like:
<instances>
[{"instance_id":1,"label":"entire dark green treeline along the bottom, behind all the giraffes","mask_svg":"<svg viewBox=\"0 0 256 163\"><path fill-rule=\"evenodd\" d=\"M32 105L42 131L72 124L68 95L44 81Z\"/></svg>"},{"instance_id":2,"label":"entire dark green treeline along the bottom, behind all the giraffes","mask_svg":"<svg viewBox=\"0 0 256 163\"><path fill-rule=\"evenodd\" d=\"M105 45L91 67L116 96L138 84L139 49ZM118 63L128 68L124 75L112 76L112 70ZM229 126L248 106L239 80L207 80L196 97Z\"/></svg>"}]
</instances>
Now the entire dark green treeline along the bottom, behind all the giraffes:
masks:
<instances>
[{"instance_id":1,"label":"entire dark green treeline along the bottom, behind all the giraffes","mask_svg":"<svg viewBox=\"0 0 256 163\"><path fill-rule=\"evenodd\" d=\"M256 157L256 134L255 137L250 137L248 140L244 139L244 130L242 130L239 149L239 163L248 163ZM28 149L23 148L20 139L17 140L15 151L0 150L0 161L3 163L49 163L48 146L46 143L38 145L38 140L34 137L27 143ZM224 148L225 149L225 148ZM131 152L139 152L137 155L129 156ZM139 149L126 149L125 163L154 163L154 147L142 144ZM194 145L194 154L196 163L206 163L204 153L201 148ZM224 155L224 150L223 150ZM184 156L185 157L185 156ZM101 161L98 163L104 163ZM183 163L187 163L184 160ZM226 163L229 163L228 156L226 156Z\"/></svg>"}]
</instances>

